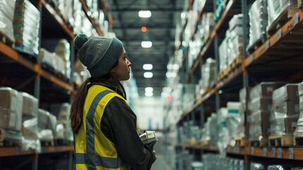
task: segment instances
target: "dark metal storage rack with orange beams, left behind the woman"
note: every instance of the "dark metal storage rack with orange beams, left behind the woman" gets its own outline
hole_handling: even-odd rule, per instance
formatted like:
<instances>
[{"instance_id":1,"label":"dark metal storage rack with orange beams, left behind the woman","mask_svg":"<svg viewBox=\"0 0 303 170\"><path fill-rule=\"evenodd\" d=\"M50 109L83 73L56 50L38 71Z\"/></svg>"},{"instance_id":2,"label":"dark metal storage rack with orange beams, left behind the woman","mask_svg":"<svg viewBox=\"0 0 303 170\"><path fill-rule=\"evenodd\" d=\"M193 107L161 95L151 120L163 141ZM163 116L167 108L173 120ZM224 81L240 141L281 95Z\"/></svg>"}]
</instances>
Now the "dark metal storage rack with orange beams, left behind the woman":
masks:
<instances>
[{"instance_id":1,"label":"dark metal storage rack with orange beams, left behind the woman","mask_svg":"<svg viewBox=\"0 0 303 170\"><path fill-rule=\"evenodd\" d=\"M44 38L66 38L71 44L71 70L75 61L75 49L73 39L75 34L69 23L64 22L63 18L54 10L54 8L44 0L30 0L32 4L40 10L40 47ZM89 18L98 35L103 35L100 27L92 17L90 17L88 6L84 0L81 1L83 11ZM101 0L103 8L105 1ZM109 14L107 13L107 17ZM43 22L43 23L42 23ZM52 32L44 30L44 24L52 24ZM48 25L49 26L49 25ZM9 86L18 91L25 91L39 98L41 102L69 102L76 93L76 86L71 79L63 75L49 72L40 64L36 57L25 53L17 52L0 42L0 82L1 86ZM4 134L0 135L0 138ZM72 169L73 168L73 145L43 147L41 152L33 149L24 151L21 147L9 146L0 147L1 168L18 169ZM12 164L18 162L18 164ZM8 165L9 164L9 165ZM7 166L7 167L6 167Z\"/></svg>"}]
</instances>

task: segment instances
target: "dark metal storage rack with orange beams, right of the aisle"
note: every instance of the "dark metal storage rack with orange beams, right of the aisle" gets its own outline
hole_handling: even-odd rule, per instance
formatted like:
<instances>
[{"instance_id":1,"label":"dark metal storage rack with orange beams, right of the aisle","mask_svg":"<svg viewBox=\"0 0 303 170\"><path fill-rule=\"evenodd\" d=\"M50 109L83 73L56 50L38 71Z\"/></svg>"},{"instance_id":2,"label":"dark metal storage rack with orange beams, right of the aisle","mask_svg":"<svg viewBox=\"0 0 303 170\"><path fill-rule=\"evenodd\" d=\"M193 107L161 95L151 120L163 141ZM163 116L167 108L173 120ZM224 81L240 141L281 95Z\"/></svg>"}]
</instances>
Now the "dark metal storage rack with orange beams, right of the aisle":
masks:
<instances>
[{"instance_id":1,"label":"dark metal storage rack with orange beams, right of the aisle","mask_svg":"<svg viewBox=\"0 0 303 170\"><path fill-rule=\"evenodd\" d=\"M213 2L215 4L215 1ZM239 6L241 6L240 8L242 13L244 13L243 25L246 26L248 24L246 19L248 18L248 7L252 2L253 1L246 0L230 0L227 2L225 11L223 11L218 22L215 23L215 26L210 33L210 37L206 41L206 44L201 48L201 52L194 61L193 66L190 68L190 73L186 75L187 83L191 82L191 79L195 79L197 70L200 72L199 69L201 67L201 63L211 56L208 53L210 53L212 49L214 49L214 51L211 54L215 55L214 58L216 59L218 66L217 59L221 31L220 29L225 29L224 25L226 25L227 16L229 16L230 13L234 13L234 11L237 13ZM233 8L233 6L237 7ZM201 16L201 13L198 13L198 16ZM198 18L201 19L201 17ZM251 54L246 54L247 44L244 43L243 49L246 57L244 57L242 62L240 62L237 67L232 68L224 78L218 79L217 83L212 89L209 89L209 91L201 95L200 98L195 101L194 106L186 109L177 125L182 125L182 123L192 120L194 121L194 125L203 127L204 121L213 111L218 111L221 106L226 106L227 101L238 101L238 92L242 87L249 85L254 86L261 81L302 81L302 29L303 11L299 10L295 16L290 18L276 31L276 33L271 35L266 42L256 48L256 50L251 52ZM248 28L244 28L244 31L248 33ZM194 34L191 35L191 38L193 37ZM244 42L246 41L244 40ZM186 47L186 50L188 50L188 48L189 47ZM177 48L177 50L179 49L180 47ZM178 73L182 72L183 70L183 62L186 60L186 55L187 54L184 52L182 64L179 67L180 69L177 71ZM219 71L218 67L217 70ZM178 144L175 145L175 147L201 150L201 152L218 151L217 148L207 146L203 147L200 145ZM227 149L227 157L239 157L240 159L244 159L246 169L249 169L249 162L258 157L265 158L264 160L285 159L287 161L292 159L295 160L295 162L302 164L303 149L297 146L263 148L229 147Z\"/></svg>"}]
</instances>

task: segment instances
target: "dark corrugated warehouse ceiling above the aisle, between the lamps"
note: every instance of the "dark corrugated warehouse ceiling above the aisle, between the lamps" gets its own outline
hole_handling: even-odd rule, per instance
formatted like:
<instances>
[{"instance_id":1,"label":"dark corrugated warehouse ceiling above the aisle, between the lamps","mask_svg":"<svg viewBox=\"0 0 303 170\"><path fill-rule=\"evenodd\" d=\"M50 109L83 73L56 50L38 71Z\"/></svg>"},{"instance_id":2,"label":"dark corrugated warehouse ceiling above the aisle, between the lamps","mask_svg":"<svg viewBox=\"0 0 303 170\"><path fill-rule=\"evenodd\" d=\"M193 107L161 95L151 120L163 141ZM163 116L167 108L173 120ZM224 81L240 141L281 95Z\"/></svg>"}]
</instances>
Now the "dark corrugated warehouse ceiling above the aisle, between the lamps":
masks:
<instances>
[{"instance_id":1,"label":"dark corrugated warehouse ceiling above the aisle, between the lamps","mask_svg":"<svg viewBox=\"0 0 303 170\"><path fill-rule=\"evenodd\" d=\"M138 11L151 11L150 18L140 18ZM182 0L111 0L112 31L124 42L136 79L139 96L145 87L153 87L153 95L160 96L165 86L167 62L174 54L175 28L184 10ZM147 28L146 32L141 27ZM150 48L141 47L142 41L151 41ZM153 77L143 77L143 64L153 64Z\"/></svg>"}]
</instances>

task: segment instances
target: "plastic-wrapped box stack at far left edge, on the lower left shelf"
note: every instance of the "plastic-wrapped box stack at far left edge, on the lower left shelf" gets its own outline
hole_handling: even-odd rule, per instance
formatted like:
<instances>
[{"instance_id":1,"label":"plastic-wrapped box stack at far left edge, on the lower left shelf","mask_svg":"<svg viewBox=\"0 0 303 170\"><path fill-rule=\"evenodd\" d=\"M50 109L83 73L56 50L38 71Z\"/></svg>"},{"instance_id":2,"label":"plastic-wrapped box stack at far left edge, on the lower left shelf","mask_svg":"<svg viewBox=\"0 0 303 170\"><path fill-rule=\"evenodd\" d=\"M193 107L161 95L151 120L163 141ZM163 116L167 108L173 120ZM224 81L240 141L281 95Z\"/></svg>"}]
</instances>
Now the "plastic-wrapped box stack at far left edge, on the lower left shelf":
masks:
<instances>
[{"instance_id":1,"label":"plastic-wrapped box stack at far left edge, on the lower left shelf","mask_svg":"<svg viewBox=\"0 0 303 170\"><path fill-rule=\"evenodd\" d=\"M22 124L23 96L10 87L0 87L0 127L20 132Z\"/></svg>"}]
</instances>

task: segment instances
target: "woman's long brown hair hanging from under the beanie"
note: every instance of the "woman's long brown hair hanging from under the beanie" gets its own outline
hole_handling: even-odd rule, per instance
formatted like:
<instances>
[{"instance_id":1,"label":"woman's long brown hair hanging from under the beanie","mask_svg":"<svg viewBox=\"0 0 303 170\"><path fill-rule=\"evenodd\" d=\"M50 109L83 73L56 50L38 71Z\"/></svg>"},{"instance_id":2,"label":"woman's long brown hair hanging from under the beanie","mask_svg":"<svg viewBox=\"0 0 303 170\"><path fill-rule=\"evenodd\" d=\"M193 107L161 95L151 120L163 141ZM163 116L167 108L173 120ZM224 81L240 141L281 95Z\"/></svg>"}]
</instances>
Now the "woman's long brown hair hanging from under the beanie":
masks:
<instances>
[{"instance_id":1,"label":"woman's long brown hair hanging from under the beanie","mask_svg":"<svg viewBox=\"0 0 303 170\"><path fill-rule=\"evenodd\" d=\"M117 67L118 64L119 64L119 60L117 60L117 62L114 64L112 68ZM123 97L126 99L124 86L110 72L107 73L104 77L102 77L102 80L107 80L112 84L118 86L119 89L123 92ZM85 98L88 95L88 84L91 81L101 81L101 79L94 79L93 77L86 79L81 84L75 98L73 99L73 103L71 104L71 115L69 119L71 120L71 130L73 131L74 134L78 133L78 130L81 127L83 121L84 103L85 103Z\"/></svg>"}]
</instances>

